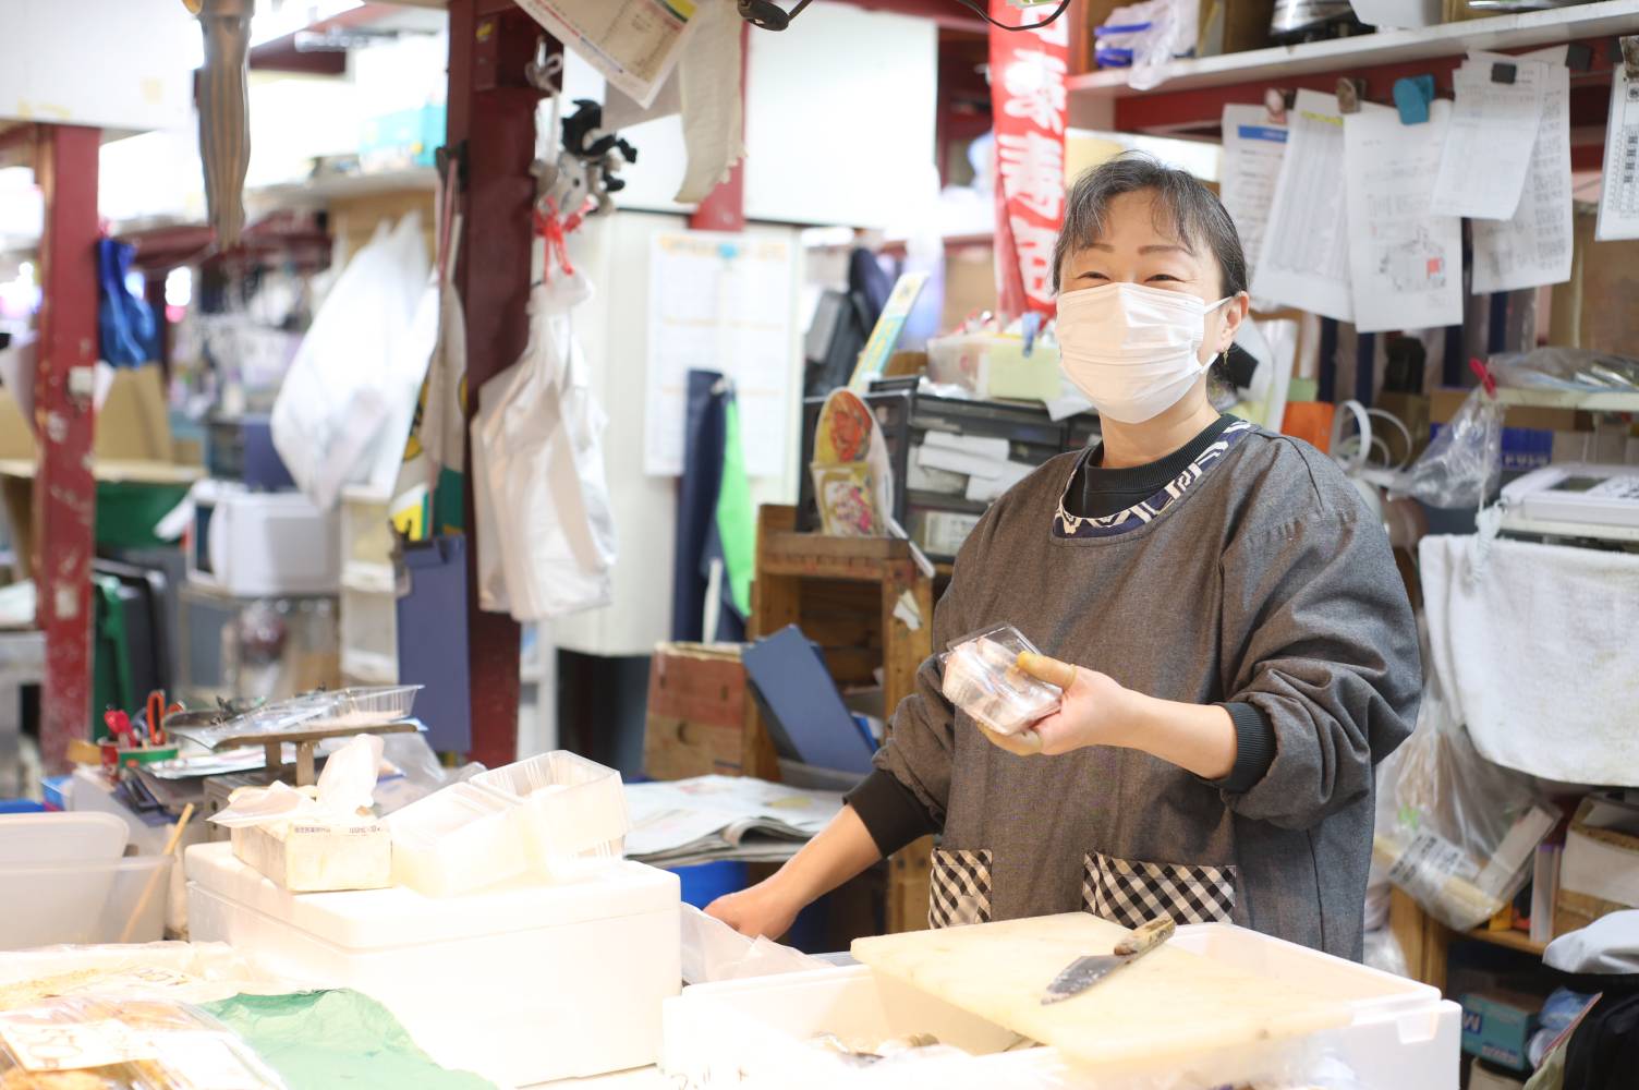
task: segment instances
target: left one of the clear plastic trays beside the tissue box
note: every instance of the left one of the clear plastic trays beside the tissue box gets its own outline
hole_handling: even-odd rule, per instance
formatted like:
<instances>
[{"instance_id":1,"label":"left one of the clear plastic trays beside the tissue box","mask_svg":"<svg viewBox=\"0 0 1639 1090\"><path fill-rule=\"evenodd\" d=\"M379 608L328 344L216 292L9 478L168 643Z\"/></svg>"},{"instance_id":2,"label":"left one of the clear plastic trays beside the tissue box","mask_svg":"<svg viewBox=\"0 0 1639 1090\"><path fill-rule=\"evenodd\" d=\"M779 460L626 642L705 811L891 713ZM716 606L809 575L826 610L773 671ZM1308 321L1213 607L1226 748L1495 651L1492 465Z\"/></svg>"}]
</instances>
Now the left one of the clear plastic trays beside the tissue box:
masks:
<instances>
[{"instance_id":1,"label":"left one of the clear plastic trays beside the tissue box","mask_svg":"<svg viewBox=\"0 0 1639 1090\"><path fill-rule=\"evenodd\" d=\"M451 783L387 816L393 880L426 897L454 897L516 879L529 867L515 805Z\"/></svg>"}]
</instances>

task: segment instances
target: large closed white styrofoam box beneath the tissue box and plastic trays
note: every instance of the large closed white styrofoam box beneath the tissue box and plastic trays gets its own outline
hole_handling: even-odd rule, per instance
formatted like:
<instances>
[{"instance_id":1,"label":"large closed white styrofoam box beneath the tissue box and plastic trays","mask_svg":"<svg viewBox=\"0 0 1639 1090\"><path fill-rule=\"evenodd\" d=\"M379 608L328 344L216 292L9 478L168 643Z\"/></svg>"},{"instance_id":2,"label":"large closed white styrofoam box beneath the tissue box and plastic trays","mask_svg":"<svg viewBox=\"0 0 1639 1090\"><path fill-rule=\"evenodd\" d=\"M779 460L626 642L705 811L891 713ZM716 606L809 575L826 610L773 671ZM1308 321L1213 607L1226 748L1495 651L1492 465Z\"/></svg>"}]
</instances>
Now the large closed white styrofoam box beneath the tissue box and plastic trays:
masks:
<instances>
[{"instance_id":1,"label":"large closed white styrofoam box beneath the tissue box and plastic trays","mask_svg":"<svg viewBox=\"0 0 1639 1090\"><path fill-rule=\"evenodd\" d=\"M502 1085L652 1064L677 995L677 875L616 862L595 879L459 898L408 888L288 893L233 857L187 854L197 942L308 987L385 1003L434 1060Z\"/></svg>"}]
</instances>

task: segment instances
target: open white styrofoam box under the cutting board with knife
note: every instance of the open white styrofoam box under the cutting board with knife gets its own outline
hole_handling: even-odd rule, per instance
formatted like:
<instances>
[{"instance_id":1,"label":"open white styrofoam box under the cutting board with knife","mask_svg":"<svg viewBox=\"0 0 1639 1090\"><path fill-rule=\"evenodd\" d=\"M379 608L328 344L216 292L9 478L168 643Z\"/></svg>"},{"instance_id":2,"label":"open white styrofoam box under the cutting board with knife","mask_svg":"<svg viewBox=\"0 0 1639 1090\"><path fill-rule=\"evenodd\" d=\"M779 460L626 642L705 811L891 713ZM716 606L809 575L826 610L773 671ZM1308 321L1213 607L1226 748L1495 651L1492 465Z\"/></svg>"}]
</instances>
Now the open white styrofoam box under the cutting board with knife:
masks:
<instances>
[{"instance_id":1,"label":"open white styrofoam box under the cutting board with knife","mask_svg":"<svg viewBox=\"0 0 1639 1090\"><path fill-rule=\"evenodd\" d=\"M1018 1036L867 965L726 980L685 988L665 1005L661 1067L690 1087L738 1085L813 1090L938 1087L939 1090L1039 1087L1042 1090L1205 1090L1259 1075L1314 1077L1337 1062L1362 1087L1457 1090L1462 1011L1439 990L1231 924L1180 926L1174 946L1305 992L1346 998L1347 1026L1278 1046L1247 1042L1214 1051L1195 1070L1188 1056L1157 1056L1154 1070L1119 1077L1069 1065L1057 1049L1006 1052ZM1046 982L1042 982L1046 987ZM851 1067L813 1044L836 1034L851 1046L931 1033L969 1056L928 1059L906 1069Z\"/></svg>"}]
</instances>

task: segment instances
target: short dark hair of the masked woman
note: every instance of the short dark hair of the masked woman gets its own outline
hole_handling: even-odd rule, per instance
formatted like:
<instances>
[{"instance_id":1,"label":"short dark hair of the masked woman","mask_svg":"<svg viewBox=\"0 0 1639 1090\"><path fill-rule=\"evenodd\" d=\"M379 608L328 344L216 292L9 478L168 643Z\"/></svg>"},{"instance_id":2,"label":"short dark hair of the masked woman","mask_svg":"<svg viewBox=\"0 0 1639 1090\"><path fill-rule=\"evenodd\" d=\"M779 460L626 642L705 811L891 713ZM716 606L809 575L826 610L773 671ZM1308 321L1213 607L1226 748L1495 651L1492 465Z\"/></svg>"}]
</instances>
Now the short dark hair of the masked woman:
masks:
<instances>
[{"instance_id":1,"label":"short dark hair of the masked woman","mask_svg":"<svg viewBox=\"0 0 1639 1090\"><path fill-rule=\"evenodd\" d=\"M1246 288L1246 252L1241 234L1223 202L1188 170L1169 167L1152 156L1129 151L1075 179L1064 203L1064 226L1052 249L1052 290L1059 290L1064 259L1087 249L1105 233L1110 202L1123 193L1155 195L1155 226L1170 228L1187 246L1206 246L1218 259L1219 290L1239 295Z\"/></svg>"}]
</instances>

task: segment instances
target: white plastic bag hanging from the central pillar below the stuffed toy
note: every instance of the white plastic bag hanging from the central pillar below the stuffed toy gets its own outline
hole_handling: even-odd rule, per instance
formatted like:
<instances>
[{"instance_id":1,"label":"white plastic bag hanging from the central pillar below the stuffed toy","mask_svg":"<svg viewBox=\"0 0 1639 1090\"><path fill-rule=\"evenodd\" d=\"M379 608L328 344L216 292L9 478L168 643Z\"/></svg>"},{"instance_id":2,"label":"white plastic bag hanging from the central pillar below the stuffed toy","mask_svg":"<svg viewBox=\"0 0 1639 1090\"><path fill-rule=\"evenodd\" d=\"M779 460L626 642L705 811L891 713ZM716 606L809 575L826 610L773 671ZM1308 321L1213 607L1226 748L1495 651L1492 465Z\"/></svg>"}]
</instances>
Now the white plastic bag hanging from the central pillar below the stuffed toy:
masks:
<instances>
[{"instance_id":1,"label":"white plastic bag hanging from the central pillar below the stuffed toy","mask_svg":"<svg viewBox=\"0 0 1639 1090\"><path fill-rule=\"evenodd\" d=\"M518 621L613 597L615 515L602 449L608 421L569 318L588 298L592 285L579 274L534 288L529 344L485 384L472 426L479 600Z\"/></svg>"}]
</instances>

